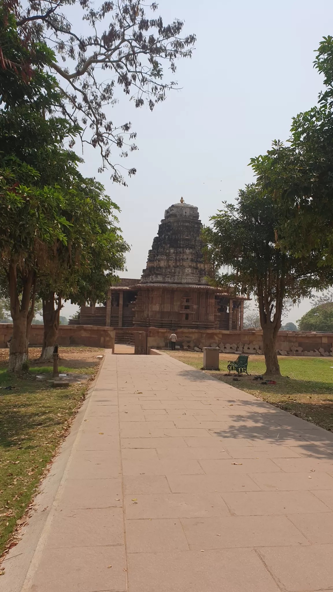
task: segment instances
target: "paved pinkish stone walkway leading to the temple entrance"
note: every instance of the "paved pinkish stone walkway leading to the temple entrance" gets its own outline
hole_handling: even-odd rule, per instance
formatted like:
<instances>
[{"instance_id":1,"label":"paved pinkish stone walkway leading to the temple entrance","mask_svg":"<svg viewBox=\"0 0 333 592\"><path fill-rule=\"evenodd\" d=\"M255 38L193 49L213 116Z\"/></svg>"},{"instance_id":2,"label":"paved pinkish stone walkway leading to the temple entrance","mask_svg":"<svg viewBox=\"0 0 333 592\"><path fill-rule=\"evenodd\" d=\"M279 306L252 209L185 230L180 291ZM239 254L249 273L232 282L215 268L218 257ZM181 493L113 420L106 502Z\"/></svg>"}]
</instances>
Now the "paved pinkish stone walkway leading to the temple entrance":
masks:
<instances>
[{"instance_id":1,"label":"paved pinkish stone walkway leading to the temple entrance","mask_svg":"<svg viewBox=\"0 0 333 592\"><path fill-rule=\"evenodd\" d=\"M107 353L24 590L332 590L332 455L167 355Z\"/></svg>"}]
</instances>

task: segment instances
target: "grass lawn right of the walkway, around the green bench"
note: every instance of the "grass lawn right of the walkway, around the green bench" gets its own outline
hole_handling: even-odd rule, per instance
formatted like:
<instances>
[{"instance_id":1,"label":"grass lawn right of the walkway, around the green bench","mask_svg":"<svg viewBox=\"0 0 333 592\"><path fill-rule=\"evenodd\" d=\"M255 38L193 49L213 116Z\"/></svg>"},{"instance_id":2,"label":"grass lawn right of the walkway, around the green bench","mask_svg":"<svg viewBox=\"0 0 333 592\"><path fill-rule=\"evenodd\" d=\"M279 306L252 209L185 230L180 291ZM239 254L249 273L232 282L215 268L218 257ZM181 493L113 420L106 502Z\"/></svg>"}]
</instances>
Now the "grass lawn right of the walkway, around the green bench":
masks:
<instances>
[{"instance_id":1,"label":"grass lawn right of the walkway, around the green bench","mask_svg":"<svg viewBox=\"0 0 333 592\"><path fill-rule=\"evenodd\" d=\"M193 368L203 366L202 353L166 353ZM207 374L333 431L333 358L278 356L282 376L277 378L276 385L262 385L252 380L255 375L264 374L264 356L250 356L248 372L251 377L242 377L237 382L233 381L234 375L224 376L228 372L228 359L236 359L236 356L220 354L220 371L207 371Z\"/></svg>"}]
</instances>

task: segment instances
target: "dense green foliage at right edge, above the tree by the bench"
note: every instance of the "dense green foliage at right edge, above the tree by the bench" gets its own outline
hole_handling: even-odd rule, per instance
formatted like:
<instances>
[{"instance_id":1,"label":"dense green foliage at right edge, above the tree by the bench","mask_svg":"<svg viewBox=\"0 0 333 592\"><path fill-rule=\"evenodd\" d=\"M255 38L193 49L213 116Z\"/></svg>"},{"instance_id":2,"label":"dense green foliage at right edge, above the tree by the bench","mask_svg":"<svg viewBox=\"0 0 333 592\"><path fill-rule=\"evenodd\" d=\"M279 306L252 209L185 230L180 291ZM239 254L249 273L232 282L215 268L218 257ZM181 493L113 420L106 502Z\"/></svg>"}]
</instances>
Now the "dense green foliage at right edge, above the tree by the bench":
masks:
<instances>
[{"instance_id":1,"label":"dense green foliage at right edge, above the tree by the bench","mask_svg":"<svg viewBox=\"0 0 333 592\"><path fill-rule=\"evenodd\" d=\"M326 90L319 103L293 118L286 146L274 141L251 159L258 183L284 212L278 245L297 256L318 253L318 265L333 264L333 37L324 37L315 67Z\"/></svg>"}]
</instances>

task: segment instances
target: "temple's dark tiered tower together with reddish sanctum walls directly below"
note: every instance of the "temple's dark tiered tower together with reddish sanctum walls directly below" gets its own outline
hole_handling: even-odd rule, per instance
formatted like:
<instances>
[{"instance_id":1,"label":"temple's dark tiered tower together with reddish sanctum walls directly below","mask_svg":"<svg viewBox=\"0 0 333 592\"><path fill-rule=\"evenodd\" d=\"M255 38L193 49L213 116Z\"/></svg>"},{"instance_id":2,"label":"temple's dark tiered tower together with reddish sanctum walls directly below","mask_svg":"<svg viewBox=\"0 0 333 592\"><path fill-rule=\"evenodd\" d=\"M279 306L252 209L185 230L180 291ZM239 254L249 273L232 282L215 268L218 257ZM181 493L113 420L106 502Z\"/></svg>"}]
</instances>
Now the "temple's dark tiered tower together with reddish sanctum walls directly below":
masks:
<instances>
[{"instance_id":1,"label":"temple's dark tiered tower together with reddish sanctum walls directly below","mask_svg":"<svg viewBox=\"0 0 333 592\"><path fill-rule=\"evenodd\" d=\"M209 329L218 324L216 288L201 242L198 208L184 200L165 210L143 269L135 303L137 327Z\"/></svg>"}]
</instances>

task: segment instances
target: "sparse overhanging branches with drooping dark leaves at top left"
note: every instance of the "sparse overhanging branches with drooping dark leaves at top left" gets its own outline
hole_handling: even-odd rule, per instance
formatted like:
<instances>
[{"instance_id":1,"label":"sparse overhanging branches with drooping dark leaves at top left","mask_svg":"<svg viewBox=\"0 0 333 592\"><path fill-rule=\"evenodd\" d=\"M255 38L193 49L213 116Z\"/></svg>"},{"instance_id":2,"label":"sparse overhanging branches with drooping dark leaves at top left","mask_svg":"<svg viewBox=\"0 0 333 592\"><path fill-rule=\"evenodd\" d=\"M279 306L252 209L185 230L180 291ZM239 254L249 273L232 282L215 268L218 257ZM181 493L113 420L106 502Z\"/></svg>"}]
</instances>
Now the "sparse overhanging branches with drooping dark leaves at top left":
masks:
<instances>
[{"instance_id":1,"label":"sparse overhanging branches with drooping dark leaves at top left","mask_svg":"<svg viewBox=\"0 0 333 592\"><path fill-rule=\"evenodd\" d=\"M28 0L23 8L18 0L4 0L4 5L15 15L24 43L28 38L47 43L55 51L57 59L49 67L60 82L63 114L72 123L81 124L82 143L98 147L101 170L110 166L113 180L123 182L111 149L116 147L126 157L136 150L136 134L129 121L117 125L108 120L105 105L115 105L120 91L136 107L148 104L152 110L164 101L177 82L163 82L163 63L174 78L176 61L191 57L195 36L181 37L181 20L164 24L162 17L156 16L155 2L111 0L95 8L82 0ZM69 5L76 8L73 23L66 14ZM61 62L66 66L60 66ZM136 171L128 172L132 175Z\"/></svg>"}]
</instances>

